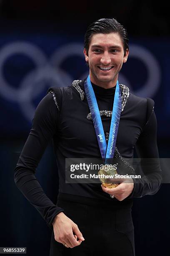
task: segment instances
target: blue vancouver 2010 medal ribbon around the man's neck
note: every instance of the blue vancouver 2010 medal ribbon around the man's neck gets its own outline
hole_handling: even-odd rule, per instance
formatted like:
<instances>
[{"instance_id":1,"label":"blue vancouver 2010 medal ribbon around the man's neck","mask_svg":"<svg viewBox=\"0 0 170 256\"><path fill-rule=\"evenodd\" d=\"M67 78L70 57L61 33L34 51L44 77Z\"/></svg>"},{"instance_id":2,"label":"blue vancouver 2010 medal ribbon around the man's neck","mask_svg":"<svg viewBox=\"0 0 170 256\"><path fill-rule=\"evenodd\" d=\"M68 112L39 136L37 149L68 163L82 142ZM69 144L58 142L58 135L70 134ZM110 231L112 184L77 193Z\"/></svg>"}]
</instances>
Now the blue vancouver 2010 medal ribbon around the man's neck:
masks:
<instances>
[{"instance_id":1,"label":"blue vancouver 2010 medal ribbon around the man's neck","mask_svg":"<svg viewBox=\"0 0 170 256\"><path fill-rule=\"evenodd\" d=\"M105 159L105 163L106 163L107 159L114 157L117 131L118 131L119 121L120 121L120 113L122 110L122 98L121 98L119 82L117 80L108 144L106 143L105 133L102 126L102 120L100 117L100 112L97 105L95 93L93 91L92 84L90 81L90 75L88 75L87 79L85 80L84 87L85 87L87 102L92 115L92 121L95 128L95 133L97 136L100 153L101 153L102 159Z\"/></svg>"}]
</instances>

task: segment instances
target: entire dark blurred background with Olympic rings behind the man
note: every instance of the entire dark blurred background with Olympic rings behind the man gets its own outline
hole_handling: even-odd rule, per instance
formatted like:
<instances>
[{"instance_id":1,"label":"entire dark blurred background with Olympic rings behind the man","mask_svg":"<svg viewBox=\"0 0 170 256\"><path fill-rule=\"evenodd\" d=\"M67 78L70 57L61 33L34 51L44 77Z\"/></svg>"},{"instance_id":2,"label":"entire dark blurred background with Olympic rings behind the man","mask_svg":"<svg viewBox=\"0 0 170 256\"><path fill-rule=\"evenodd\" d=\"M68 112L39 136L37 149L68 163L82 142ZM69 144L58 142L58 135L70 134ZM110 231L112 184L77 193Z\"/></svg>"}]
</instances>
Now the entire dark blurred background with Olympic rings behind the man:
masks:
<instances>
[{"instance_id":1,"label":"entire dark blurred background with Olympic rings behind the man","mask_svg":"<svg viewBox=\"0 0 170 256\"><path fill-rule=\"evenodd\" d=\"M170 157L170 18L161 1L111 3L0 0L0 247L27 247L28 256L48 256L51 230L15 186L13 172L28 137L36 106L48 87L84 79L87 26L116 18L127 28L130 56L119 82L155 101L158 148ZM36 177L53 202L58 177L51 143ZM134 200L137 256L169 255L170 186Z\"/></svg>"}]
</instances>

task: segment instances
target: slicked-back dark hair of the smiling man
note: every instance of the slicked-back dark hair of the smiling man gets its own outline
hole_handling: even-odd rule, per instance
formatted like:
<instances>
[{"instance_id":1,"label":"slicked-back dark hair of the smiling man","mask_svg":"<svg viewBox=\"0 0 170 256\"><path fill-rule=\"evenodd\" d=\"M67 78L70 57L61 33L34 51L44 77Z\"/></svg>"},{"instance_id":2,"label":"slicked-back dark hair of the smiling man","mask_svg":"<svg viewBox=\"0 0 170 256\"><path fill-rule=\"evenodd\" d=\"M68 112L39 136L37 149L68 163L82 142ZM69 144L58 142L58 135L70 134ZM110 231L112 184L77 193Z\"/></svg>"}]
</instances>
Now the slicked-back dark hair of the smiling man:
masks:
<instances>
[{"instance_id":1,"label":"slicked-back dark hair of the smiling man","mask_svg":"<svg viewBox=\"0 0 170 256\"><path fill-rule=\"evenodd\" d=\"M103 18L103 19L94 21L87 28L87 31L85 33L85 42L84 42L84 48L87 51L87 55L89 51L90 40L94 34L98 34L98 33L103 33L103 34L118 33L123 42L124 54L126 53L126 50L129 49L129 45L128 45L129 39L128 39L128 33L126 29L120 23L118 23L117 20L113 18L112 19Z\"/></svg>"}]
</instances>

